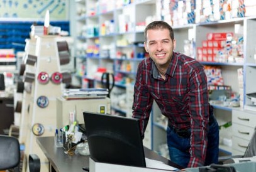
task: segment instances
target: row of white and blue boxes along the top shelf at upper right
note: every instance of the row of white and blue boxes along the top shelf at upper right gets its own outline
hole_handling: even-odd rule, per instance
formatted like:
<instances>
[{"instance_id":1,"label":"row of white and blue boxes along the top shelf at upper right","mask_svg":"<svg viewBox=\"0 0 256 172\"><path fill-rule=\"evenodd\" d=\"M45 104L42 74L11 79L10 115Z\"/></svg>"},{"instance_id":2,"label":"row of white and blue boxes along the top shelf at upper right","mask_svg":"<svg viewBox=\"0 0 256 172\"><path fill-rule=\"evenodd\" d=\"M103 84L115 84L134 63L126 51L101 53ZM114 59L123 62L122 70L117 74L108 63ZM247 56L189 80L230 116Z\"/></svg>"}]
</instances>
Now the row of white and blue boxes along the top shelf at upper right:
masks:
<instances>
[{"instance_id":1,"label":"row of white and blue boxes along the top shelf at upper right","mask_svg":"<svg viewBox=\"0 0 256 172\"><path fill-rule=\"evenodd\" d=\"M169 6L169 9L166 8ZM256 3L250 0L164 0L162 17L172 26L255 16Z\"/></svg>"}]
</instances>

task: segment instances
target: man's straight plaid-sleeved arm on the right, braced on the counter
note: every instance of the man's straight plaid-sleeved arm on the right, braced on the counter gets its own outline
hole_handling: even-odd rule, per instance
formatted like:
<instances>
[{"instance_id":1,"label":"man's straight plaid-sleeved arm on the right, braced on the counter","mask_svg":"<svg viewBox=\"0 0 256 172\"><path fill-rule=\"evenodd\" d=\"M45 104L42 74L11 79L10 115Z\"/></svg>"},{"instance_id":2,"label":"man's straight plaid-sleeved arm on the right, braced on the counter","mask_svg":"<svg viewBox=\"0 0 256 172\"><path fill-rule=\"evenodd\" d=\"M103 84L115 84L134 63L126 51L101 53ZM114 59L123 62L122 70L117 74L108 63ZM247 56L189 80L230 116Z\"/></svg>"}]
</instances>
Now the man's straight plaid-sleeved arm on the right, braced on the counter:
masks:
<instances>
[{"instance_id":1,"label":"man's straight plaid-sleeved arm on the right, braced on the counter","mask_svg":"<svg viewBox=\"0 0 256 172\"><path fill-rule=\"evenodd\" d=\"M204 166L209 129L208 87L204 68L191 73L190 114L191 114L191 158L188 167Z\"/></svg>"}]
</instances>

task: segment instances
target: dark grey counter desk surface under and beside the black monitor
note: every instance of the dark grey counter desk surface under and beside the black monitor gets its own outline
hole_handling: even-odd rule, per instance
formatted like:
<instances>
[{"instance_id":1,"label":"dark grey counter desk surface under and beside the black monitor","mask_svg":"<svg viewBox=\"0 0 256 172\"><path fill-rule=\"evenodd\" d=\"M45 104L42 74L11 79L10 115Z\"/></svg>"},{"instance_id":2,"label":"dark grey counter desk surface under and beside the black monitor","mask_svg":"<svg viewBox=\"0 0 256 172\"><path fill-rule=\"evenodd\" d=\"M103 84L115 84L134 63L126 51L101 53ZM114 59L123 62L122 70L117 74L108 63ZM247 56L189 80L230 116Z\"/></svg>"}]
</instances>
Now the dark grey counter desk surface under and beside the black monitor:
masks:
<instances>
[{"instance_id":1,"label":"dark grey counter desk surface under and beside the black monitor","mask_svg":"<svg viewBox=\"0 0 256 172\"><path fill-rule=\"evenodd\" d=\"M54 137L37 137L36 142L48 158L50 172L84 171L82 168L89 167L89 156L81 156L79 154L69 156L65 154L63 148L57 148L54 146ZM181 168L177 164L172 163L169 159L160 156L148 148L144 148L144 151L146 158L162 161L174 168Z\"/></svg>"}]
</instances>

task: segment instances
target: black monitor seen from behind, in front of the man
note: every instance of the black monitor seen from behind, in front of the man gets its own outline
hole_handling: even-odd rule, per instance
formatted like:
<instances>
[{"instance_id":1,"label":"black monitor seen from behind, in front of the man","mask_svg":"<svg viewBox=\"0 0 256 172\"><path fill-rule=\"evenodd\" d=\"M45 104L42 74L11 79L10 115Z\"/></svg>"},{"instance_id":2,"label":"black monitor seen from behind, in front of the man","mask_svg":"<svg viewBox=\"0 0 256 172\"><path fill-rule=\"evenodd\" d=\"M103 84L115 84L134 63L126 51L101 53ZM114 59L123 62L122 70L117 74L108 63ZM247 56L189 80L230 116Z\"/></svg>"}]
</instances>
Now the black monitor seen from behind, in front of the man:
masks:
<instances>
[{"instance_id":1,"label":"black monitor seen from behind, in front of the man","mask_svg":"<svg viewBox=\"0 0 256 172\"><path fill-rule=\"evenodd\" d=\"M83 115L94 161L146 167L138 119L93 112Z\"/></svg>"}]
</instances>

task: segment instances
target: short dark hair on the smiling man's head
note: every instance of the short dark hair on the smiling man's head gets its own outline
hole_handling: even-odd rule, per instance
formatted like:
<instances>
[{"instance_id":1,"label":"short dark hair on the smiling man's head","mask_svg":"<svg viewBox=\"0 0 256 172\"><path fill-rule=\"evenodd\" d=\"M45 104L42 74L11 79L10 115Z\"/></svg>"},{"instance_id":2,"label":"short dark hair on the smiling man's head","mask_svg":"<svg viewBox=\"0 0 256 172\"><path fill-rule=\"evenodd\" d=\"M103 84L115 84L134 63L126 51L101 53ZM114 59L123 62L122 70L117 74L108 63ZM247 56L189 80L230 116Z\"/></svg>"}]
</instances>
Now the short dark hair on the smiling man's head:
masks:
<instances>
[{"instance_id":1,"label":"short dark hair on the smiling man's head","mask_svg":"<svg viewBox=\"0 0 256 172\"><path fill-rule=\"evenodd\" d=\"M174 40L174 30L172 30L172 27L170 24L166 23L165 21L153 21L152 23L148 24L147 27L144 30L144 38L145 42L147 41L147 31L148 30L163 30L167 29L170 32L170 38L172 41Z\"/></svg>"}]
</instances>

